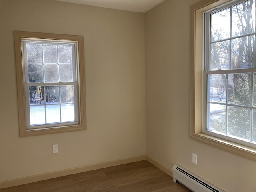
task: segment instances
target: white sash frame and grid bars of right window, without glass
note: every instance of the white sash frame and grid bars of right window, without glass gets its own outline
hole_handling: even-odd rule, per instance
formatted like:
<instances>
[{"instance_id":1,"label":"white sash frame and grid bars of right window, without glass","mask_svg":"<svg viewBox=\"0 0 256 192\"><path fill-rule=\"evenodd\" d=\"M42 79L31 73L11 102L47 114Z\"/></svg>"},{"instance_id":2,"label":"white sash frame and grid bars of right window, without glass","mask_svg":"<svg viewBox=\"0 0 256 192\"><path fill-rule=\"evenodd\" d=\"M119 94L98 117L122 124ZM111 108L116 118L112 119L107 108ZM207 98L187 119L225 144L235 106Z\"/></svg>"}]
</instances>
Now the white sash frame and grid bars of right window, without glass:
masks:
<instances>
[{"instance_id":1,"label":"white sash frame and grid bars of right window, without glass","mask_svg":"<svg viewBox=\"0 0 256 192\"><path fill-rule=\"evenodd\" d=\"M214 8L212 10L209 10L207 12L204 13L205 15L205 28L204 28L204 32L205 34L205 48L206 51L204 52L205 56L204 56L204 70L203 70L203 118L202 118L202 123L203 126L202 127L202 132L213 135L213 136L217 136L220 138L224 138L231 141L235 141L241 144L245 144L248 146L252 146L254 148L256 148L256 135L253 134L253 118L256 115L256 113L254 113L254 111L256 110L256 106L254 106L254 79L256 78L256 69L255 66L254 68L235 68L232 69L232 40L236 40L239 38L247 38L248 36L252 36L255 40L255 21L256 21L256 16L254 18L254 32L252 33L248 33L248 34L243 34L243 35L238 35L238 36L232 36L232 8L238 4L241 4L243 2L248 2L248 1L235 1L232 4L225 4L222 5L221 7L218 8ZM255 2L254 2L254 6L255 6ZM211 15L215 14L217 12L221 12L222 10L225 10L229 7L230 9L230 32L229 32L229 38L224 38L224 39L220 39L220 40L213 40L211 37ZM256 12L255 12L256 13ZM207 35L208 34L208 35ZM228 53L228 68L225 69L212 69L211 66L211 46L217 43L222 43L224 41L229 41L229 53ZM255 47L253 46L253 50L255 50ZM255 55L255 51L254 51L254 55ZM255 57L256 58L256 57ZM234 75L234 74L245 74L248 73L248 76L250 78L249 82L250 82L250 105L242 105L242 104L234 104L234 103L230 103L229 102L229 84L228 78L231 78L230 76ZM225 102L214 102L212 100L210 100L210 76L211 75L224 75L225 76ZM220 99L221 100L221 99ZM210 104L216 104L219 106L224 106L225 110L225 130L224 132L214 132L212 130L210 130ZM239 107L239 108L248 108L250 110L250 114L249 114L249 138L240 138L240 137L236 137L233 135L228 134L228 108L229 107ZM206 115L204 115L206 114ZM250 142L248 144L248 142Z\"/></svg>"}]
</instances>

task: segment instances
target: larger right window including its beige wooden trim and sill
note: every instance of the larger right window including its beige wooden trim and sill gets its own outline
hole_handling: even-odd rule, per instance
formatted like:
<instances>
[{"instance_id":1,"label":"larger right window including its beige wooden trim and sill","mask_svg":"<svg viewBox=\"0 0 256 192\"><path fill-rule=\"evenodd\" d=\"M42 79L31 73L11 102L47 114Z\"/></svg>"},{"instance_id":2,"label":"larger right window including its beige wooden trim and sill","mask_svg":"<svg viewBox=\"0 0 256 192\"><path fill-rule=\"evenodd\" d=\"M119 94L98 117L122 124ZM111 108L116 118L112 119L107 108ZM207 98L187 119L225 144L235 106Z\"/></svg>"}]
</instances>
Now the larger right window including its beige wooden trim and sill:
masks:
<instances>
[{"instance_id":1,"label":"larger right window including its beige wooden trim and sill","mask_svg":"<svg viewBox=\"0 0 256 192\"><path fill-rule=\"evenodd\" d=\"M191 137L256 160L255 0L191 6Z\"/></svg>"}]
</instances>

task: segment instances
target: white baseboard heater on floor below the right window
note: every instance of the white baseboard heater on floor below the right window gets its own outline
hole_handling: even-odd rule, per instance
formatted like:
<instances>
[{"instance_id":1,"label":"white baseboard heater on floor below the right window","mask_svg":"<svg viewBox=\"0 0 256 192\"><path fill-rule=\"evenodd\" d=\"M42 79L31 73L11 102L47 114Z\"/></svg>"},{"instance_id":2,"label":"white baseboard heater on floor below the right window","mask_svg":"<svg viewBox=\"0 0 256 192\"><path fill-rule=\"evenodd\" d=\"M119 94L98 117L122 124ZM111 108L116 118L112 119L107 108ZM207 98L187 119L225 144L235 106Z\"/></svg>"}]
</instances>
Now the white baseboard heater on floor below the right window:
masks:
<instances>
[{"instance_id":1,"label":"white baseboard heater on floor below the right window","mask_svg":"<svg viewBox=\"0 0 256 192\"><path fill-rule=\"evenodd\" d=\"M172 178L174 182L179 182L193 192L224 192L178 164L172 168Z\"/></svg>"}]
</instances>

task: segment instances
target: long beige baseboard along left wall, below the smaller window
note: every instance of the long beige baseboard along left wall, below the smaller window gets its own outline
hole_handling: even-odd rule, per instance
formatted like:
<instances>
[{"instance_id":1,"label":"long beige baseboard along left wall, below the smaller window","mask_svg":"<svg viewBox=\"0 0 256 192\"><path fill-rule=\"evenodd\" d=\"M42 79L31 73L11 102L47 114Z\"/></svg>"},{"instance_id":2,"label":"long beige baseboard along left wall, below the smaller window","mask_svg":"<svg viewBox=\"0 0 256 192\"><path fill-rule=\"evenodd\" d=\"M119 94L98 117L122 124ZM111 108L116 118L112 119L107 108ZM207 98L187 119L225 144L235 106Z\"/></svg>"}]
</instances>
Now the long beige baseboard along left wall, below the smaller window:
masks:
<instances>
[{"instance_id":1,"label":"long beige baseboard along left wall, below the smaller window","mask_svg":"<svg viewBox=\"0 0 256 192\"><path fill-rule=\"evenodd\" d=\"M42 180L46 180L46 179L52 179L52 178L56 178L56 177L66 176L66 175L71 175L71 174L76 174L76 173L81 173L81 172L86 172L86 171L91 171L91 170L96 170L96 169L101 169L101 168L106 168L106 167L111 167L111 166L116 166L116 165L121 165L121 164L126 164L126 163L132 163L132 162L136 162L136 161L142 161L142 160L146 160L146 155L140 155L140 156L135 156L135 157L130 157L130 158L123 158L123 159L112 160L112 161L108 161L108 162L102 162L102 163L80 166L80 167L75 167L75 168L69 168L69 169L64 169L64 170L58 170L58 171L54 171L54 172L48 172L48 173L43 173L43 174L38 174L38 175L33 175L33 176L27 176L27 177L12 179L12 180L1 181L0 189L17 186L17 185L28 184L28 183L37 182L37 181L42 181Z\"/></svg>"}]
</instances>

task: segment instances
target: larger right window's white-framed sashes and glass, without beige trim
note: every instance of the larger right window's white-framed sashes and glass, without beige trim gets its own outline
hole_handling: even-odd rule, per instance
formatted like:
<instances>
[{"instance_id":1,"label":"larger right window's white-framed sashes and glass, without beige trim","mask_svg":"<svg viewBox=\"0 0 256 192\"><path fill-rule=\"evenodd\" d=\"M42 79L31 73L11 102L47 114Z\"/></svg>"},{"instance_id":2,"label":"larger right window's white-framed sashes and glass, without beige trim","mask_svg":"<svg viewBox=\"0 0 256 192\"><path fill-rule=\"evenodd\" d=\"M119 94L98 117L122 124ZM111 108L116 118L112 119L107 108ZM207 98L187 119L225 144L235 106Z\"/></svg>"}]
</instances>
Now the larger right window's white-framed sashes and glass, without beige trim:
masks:
<instances>
[{"instance_id":1,"label":"larger right window's white-framed sashes and glass, without beige trim","mask_svg":"<svg viewBox=\"0 0 256 192\"><path fill-rule=\"evenodd\" d=\"M256 2L204 12L202 132L256 148Z\"/></svg>"}]
</instances>

